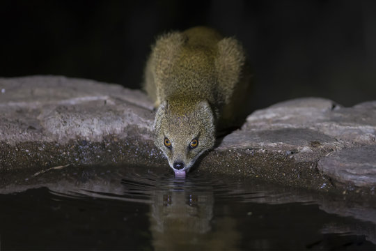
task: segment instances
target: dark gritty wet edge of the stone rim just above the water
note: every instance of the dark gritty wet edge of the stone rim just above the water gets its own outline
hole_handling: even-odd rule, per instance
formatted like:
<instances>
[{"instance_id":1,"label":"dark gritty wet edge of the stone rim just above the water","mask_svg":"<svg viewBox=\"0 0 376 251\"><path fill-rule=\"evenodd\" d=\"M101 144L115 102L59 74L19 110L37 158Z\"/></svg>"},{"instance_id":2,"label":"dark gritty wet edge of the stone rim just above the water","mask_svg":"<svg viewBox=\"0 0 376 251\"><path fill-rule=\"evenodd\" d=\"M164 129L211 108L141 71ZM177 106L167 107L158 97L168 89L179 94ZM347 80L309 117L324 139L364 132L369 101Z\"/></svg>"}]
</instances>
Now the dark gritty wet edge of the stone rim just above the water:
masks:
<instances>
[{"instance_id":1,"label":"dark gritty wet edge of the stone rim just above the water","mask_svg":"<svg viewBox=\"0 0 376 251\"><path fill-rule=\"evenodd\" d=\"M68 79L69 80L69 79ZM70 139L68 142L0 142L0 176L4 186L16 176L29 175L40 170L61 165L145 165L156 169L168 169L162 153L155 148L150 135L143 137L140 130L127 128L127 137L107 135L101 142L87 139ZM141 133L141 134L140 134ZM150 134L150 132L146 132ZM132 135L132 136L129 136ZM361 145L354 145L359 147ZM342 149L345 149L342 146ZM334 149L338 151L342 149ZM330 152L330 151L329 151ZM354 195L373 195L375 185L354 185L349 180L334 179L320 161L326 158L320 153L316 158L297 161L291 151L269 151L260 148L231 149L219 147L205 154L194 172L210 172L230 176L260 179L297 188L318 191L341 192ZM171 172L171 175L173 173Z\"/></svg>"}]
</instances>

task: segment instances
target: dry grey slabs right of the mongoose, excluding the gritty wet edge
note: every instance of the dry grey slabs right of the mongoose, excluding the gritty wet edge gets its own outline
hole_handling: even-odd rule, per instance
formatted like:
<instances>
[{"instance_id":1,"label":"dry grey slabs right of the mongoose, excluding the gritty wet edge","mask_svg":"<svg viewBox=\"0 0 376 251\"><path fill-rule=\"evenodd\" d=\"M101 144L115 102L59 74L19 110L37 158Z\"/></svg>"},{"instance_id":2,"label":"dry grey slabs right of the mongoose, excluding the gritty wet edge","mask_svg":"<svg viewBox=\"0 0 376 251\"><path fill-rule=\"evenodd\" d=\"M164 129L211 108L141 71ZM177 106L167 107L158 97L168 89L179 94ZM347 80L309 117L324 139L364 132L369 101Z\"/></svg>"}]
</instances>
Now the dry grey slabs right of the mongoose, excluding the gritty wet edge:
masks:
<instances>
[{"instance_id":1,"label":"dry grey slabs right of the mongoose, excluding the gritty wet edge","mask_svg":"<svg viewBox=\"0 0 376 251\"><path fill-rule=\"evenodd\" d=\"M264 149L295 162L323 158L320 171L334 181L373 187L375 137L376 102L345 108L331 100L300 98L253 112L218 149ZM332 157L325 158L329 153Z\"/></svg>"}]
</instances>

